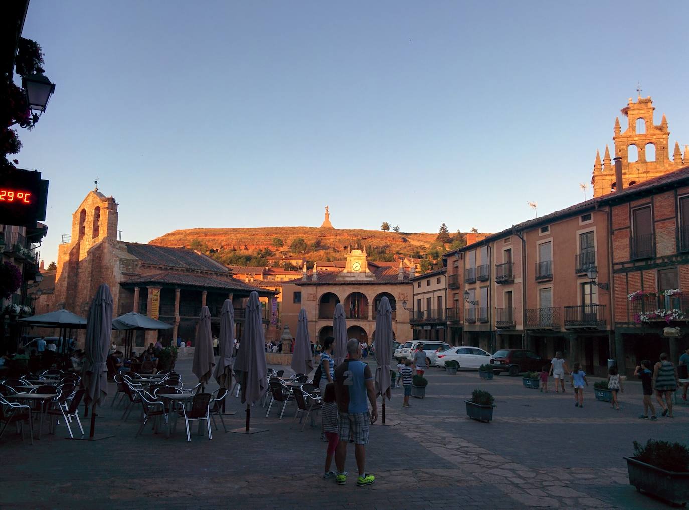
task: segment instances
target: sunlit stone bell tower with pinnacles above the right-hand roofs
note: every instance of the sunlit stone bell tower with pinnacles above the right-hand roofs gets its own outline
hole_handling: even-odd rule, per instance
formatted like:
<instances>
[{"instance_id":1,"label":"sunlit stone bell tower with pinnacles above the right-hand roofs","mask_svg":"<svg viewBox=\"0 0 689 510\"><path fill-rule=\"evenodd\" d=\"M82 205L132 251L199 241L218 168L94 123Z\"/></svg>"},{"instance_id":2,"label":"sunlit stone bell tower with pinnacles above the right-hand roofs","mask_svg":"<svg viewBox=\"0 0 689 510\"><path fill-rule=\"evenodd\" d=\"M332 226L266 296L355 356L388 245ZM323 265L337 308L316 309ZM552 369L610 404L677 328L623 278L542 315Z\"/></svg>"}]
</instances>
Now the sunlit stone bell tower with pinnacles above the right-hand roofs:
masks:
<instances>
[{"instance_id":1,"label":"sunlit stone bell tower with pinnacles above the right-hand roofs","mask_svg":"<svg viewBox=\"0 0 689 510\"><path fill-rule=\"evenodd\" d=\"M613 143L615 157L621 159L624 187L648 181L689 164L689 146L685 146L682 160L679 143L675 143L670 159L668 121L663 115L660 125L655 125L654 110L650 96L639 96L636 103L630 98L626 107L621 110L627 117L627 129L624 132L621 132L619 117L615 119ZM591 184L593 196L608 194L617 188L615 165L610 161L607 145L602 162L600 153L596 152Z\"/></svg>"}]
</instances>

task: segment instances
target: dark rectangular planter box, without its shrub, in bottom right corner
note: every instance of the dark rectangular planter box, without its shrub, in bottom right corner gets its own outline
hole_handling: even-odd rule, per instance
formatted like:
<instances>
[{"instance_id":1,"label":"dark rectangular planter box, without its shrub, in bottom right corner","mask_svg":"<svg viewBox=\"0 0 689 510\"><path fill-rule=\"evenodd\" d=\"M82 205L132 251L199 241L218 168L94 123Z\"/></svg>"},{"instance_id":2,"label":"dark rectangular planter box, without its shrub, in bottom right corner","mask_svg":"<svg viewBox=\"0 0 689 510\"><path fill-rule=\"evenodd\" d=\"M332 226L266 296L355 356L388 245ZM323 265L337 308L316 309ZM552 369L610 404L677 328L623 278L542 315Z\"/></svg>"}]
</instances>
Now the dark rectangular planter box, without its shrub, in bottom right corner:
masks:
<instances>
[{"instance_id":1,"label":"dark rectangular planter box, without its shrub, in bottom right corner","mask_svg":"<svg viewBox=\"0 0 689 510\"><path fill-rule=\"evenodd\" d=\"M625 457L629 473L629 484L637 491L646 491L666 501L684 504L689 502L689 473L673 473Z\"/></svg>"}]
</instances>

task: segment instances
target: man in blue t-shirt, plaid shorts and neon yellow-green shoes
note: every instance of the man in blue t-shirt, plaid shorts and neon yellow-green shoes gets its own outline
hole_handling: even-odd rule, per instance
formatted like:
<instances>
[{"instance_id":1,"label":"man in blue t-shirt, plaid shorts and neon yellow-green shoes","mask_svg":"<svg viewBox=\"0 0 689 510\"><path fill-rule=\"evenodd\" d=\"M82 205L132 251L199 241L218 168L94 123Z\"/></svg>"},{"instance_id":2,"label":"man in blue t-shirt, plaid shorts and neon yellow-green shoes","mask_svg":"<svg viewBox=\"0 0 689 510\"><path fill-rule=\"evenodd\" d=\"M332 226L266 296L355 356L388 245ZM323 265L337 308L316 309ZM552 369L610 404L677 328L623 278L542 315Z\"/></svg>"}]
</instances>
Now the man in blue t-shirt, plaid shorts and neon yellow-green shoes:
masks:
<instances>
[{"instance_id":1,"label":"man in blue t-shirt, plaid shorts and neon yellow-green shoes","mask_svg":"<svg viewBox=\"0 0 689 510\"><path fill-rule=\"evenodd\" d=\"M347 354L349 358L335 369L335 391L340 409L340 442L335 453L335 462L338 466L336 482L340 485L347 482L345 460L347 442L351 438L359 471L356 484L358 487L364 487L375 480L372 475L364 472L364 446L369 443L369 425L378 419L378 407L371 369L360 360L361 346L357 340L350 339L347 342ZM367 399L371 402L371 414Z\"/></svg>"}]
</instances>

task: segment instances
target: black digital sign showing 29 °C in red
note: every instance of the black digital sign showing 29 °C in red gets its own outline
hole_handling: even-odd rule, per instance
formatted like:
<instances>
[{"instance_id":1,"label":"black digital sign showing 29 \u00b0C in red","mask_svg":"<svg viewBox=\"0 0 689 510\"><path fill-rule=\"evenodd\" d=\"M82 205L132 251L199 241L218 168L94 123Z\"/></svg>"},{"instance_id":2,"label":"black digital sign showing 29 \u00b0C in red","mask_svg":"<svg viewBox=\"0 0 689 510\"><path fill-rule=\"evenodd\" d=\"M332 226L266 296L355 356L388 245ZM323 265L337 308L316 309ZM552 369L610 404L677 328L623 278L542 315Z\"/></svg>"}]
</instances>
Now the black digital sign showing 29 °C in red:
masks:
<instances>
[{"instance_id":1,"label":"black digital sign showing 29 \u00b0C in red","mask_svg":"<svg viewBox=\"0 0 689 510\"><path fill-rule=\"evenodd\" d=\"M41 172L9 170L0 172L0 223L35 227L45 220L48 181Z\"/></svg>"}]
</instances>

